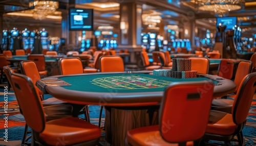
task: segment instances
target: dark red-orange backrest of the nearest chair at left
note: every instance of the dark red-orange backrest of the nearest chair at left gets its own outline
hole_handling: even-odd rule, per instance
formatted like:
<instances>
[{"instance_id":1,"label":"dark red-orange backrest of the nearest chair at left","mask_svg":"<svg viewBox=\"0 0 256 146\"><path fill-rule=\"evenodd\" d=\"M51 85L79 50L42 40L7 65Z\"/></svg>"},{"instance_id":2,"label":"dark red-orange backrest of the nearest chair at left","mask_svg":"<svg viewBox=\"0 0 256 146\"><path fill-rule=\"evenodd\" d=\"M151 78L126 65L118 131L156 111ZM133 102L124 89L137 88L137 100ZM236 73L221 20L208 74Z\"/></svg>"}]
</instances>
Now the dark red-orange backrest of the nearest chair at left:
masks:
<instances>
[{"instance_id":1,"label":"dark red-orange backrest of the nearest chair at left","mask_svg":"<svg viewBox=\"0 0 256 146\"><path fill-rule=\"evenodd\" d=\"M29 77L21 74L12 74L11 80L26 124L36 132L44 131L46 116L35 85Z\"/></svg>"}]
</instances>

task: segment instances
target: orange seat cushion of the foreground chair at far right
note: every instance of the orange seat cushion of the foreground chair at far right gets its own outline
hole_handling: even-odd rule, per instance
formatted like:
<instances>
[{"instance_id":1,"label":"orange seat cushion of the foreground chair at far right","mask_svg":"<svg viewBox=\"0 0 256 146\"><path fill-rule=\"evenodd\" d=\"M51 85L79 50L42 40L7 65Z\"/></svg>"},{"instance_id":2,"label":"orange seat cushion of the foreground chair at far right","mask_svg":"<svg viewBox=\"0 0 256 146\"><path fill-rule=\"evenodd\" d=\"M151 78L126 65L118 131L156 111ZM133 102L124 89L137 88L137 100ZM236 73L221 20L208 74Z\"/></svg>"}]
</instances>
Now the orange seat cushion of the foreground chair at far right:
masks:
<instances>
[{"instance_id":1,"label":"orange seat cushion of the foreground chair at far right","mask_svg":"<svg viewBox=\"0 0 256 146\"><path fill-rule=\"evenodd\" d=\"M205 133L231 135L237 128L238 126L233 123L232 114L211 110Z\"/></svg>"}]
</instances>

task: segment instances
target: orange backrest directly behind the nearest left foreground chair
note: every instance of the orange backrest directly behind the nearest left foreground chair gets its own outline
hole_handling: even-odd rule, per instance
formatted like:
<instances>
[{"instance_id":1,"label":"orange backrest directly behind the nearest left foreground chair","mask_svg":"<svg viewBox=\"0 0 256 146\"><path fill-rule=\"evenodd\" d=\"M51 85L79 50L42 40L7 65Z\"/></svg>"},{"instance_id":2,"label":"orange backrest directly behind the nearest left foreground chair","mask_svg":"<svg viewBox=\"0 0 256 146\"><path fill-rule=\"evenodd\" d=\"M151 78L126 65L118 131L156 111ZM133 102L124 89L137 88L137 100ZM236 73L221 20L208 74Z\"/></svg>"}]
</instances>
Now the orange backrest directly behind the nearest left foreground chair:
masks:
<instances>
[{"instance_id":1,"label":"orange backrest directly behind the nearest left foreground chair","mask_svg":"<svg viewBox=\"0 0 256 146\"><path fill-rule=\"evenodd\" d=\"M19 63L19 67L22 71L22 74L28 76L32 80L34 85L36 85L36 82L41 79L34 61L21 61Z\"/></svg>"}]
</instances>

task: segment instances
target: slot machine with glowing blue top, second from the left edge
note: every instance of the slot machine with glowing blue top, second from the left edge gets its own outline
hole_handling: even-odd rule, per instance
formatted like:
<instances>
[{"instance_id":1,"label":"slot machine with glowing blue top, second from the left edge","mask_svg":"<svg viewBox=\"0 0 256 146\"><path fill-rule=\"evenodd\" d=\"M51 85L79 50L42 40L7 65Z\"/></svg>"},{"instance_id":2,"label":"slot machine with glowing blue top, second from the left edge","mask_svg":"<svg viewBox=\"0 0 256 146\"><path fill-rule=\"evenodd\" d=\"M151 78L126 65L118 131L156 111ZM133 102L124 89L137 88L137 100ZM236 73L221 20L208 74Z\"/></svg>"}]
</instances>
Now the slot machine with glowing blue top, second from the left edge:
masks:
<instances>
[{"instance_id":1,"label":"slot machine with glowing blue top, second from the left edge","mask_svg":"<svg viewBox=\"0 0 256 146\"><path fill-rule=\"evenodd\" d=\"M15 55L15 51L21 49L22 40L20 39L20 33L17 28L13 28L10 31L9 36L9 50Z\"/></svg>"}]
</instances>

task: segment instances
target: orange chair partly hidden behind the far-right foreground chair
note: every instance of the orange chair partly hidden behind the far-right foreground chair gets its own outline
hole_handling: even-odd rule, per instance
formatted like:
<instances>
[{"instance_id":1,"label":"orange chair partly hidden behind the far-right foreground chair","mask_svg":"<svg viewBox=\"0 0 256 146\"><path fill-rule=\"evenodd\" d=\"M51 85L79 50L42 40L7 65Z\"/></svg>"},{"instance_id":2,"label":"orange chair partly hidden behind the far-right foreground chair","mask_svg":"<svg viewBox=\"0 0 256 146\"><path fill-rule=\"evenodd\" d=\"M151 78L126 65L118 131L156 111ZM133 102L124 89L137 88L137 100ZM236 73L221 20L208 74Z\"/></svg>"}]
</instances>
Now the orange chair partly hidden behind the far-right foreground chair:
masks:
<instances>
[{"instance_id":1,"label":"orange chair partly hidden behind the far-right foreground chair","mask_svg":"<svg viewBox=\"0 0 256 146\"><path fill-rule=\"evenodd\" d=\"M228 94L230 98L236 98L237 97L237 92L240 86L242 85L242 80L244 79L245 76L251 73L251 68L252 68L252 62L251 61L241 61L238 64L236 76L234 77L234 83L237 85L237 88L234 90L233 94ZM215 99L212 100L212 109L218 110L218 111L223 111L227 113L231 113L232 111L232 105L233 105L233 100L230 99Z\"/></svg>"}]
</instances>

